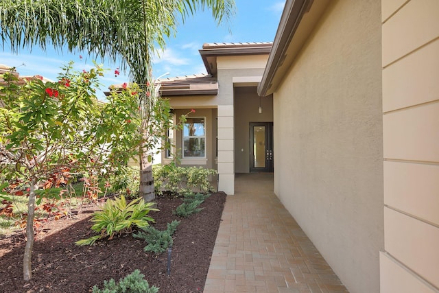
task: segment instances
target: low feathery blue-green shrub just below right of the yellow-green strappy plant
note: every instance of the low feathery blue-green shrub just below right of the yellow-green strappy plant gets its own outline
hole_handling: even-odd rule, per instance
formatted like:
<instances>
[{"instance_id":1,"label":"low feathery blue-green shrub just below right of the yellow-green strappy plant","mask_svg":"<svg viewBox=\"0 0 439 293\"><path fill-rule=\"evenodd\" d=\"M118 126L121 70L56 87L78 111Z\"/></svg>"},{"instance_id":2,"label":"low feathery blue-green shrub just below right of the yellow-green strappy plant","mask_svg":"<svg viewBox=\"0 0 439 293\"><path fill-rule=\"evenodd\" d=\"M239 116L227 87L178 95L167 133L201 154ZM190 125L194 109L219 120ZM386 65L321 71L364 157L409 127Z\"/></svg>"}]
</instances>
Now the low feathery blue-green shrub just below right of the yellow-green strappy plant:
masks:
<instances>
[{"instance_id":1,"label":"low feathery blue-green shrub just below right of the yellow-green strappy plant","mask_svg":"<svg viewBox=\"0 0 439 293\"><path fill-rule=\"evenodd\" d=\"M172 235L177 230L177 226L180 221L174 220L171 223L167 223L167 229L159 231L152 226L142 228L143 231L133 234L133 237L138 239L144 239L148 243L143 250L147 253L155 253L160 255L164 253L169 246L172 246Z\"/></svg>"}]
</instances>

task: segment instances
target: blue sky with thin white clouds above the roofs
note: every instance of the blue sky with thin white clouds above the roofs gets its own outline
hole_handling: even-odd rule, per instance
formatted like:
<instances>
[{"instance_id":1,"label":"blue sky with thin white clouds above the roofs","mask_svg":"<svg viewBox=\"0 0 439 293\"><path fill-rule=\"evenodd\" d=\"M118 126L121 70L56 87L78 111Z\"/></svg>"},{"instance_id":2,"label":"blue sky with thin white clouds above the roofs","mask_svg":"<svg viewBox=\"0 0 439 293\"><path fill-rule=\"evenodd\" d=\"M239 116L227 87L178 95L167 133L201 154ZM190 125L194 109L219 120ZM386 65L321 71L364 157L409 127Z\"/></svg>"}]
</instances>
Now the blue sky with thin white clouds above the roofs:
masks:
<instances>
[{"instance_id":1,"label":"blue sky with thin white clouds above the roofs","mask_svg":"<svg viewBox=\"0 0 439 293\"><path fill-rule=\"evenodd\" d=\"M206 73L199 49L204 43L239 43L239 42L272 42L276 34L285 0L235 0L236 15L227 25L217 25L209 12L197 12L189 17L184 24L178 26L176 37L167 40L165 51L154 58L154 76L164 73L168 76L182 76ZM79 56L82 55L82 60ZM32 51L21 49L19 54L12 54L5 47L0 51L0 64L17 67L20 75L43 75L55 80L60 67L70 60L75 62L78 70L93 67L92 59L83 52L70 54L48 48L47 52L34 47ZM97 60L104 68L110 69L101 80L105 90L110 84L128 81L121 73L117 78L113 74L119 64L108 60ZM23 65L23 63L25 65ZM102 94L101 94L102 95ZM99 98L103 98L103 95Z\"/></svg>"}]
</instances>

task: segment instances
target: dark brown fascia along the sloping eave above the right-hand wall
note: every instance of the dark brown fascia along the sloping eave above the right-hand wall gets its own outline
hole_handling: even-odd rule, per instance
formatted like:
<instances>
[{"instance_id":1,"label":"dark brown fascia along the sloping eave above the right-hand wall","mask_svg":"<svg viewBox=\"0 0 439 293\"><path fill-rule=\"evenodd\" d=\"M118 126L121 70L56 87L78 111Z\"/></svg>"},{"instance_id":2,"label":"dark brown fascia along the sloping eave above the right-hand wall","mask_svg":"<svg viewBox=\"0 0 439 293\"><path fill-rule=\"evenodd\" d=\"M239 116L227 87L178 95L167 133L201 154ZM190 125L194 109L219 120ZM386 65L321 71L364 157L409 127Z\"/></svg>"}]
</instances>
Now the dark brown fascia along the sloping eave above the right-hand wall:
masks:
<instances>
[{"instance_id":1,"label":"dark brown fascia along the sloping eave above the right-hand wall","mask_svg":"<svg viewBox=\"0 0 439 293\"><path fill-rule=\"evenodd\" d=\"M267 67L258 86L258 95L265 97L270 95L269 89L272 87L272 80L276 70L283 63L285 53L291 42L302 16L309 11L313 0L287 0L281 16L276 36L274 37L272 51L268 57Z\"/></svg>"}]
</instances>

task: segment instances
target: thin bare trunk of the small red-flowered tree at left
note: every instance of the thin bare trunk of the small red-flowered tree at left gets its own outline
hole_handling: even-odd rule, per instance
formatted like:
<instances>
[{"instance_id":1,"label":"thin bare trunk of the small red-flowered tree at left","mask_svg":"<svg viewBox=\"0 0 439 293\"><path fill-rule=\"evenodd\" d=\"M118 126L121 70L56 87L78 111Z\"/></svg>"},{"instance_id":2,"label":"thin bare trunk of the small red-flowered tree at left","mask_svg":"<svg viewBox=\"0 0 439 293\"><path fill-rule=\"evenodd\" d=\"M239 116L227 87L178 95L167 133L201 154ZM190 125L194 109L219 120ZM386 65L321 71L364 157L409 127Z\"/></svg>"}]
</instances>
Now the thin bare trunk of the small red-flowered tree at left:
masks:
<instances>
[{"instance_id":1,"label":"thin bare trunk of the small red-flowered tree at left","mask_svg":"<svg viewBox=\"0 0 439 293\"><path fill-rule=\"evenodd\" d=\"M29 202L27 203L26 246L23 256L23 279L32 279L32 248L34 247L34 213L35 213L36 178L30 180Z\"/></svg>"}]
</instances>

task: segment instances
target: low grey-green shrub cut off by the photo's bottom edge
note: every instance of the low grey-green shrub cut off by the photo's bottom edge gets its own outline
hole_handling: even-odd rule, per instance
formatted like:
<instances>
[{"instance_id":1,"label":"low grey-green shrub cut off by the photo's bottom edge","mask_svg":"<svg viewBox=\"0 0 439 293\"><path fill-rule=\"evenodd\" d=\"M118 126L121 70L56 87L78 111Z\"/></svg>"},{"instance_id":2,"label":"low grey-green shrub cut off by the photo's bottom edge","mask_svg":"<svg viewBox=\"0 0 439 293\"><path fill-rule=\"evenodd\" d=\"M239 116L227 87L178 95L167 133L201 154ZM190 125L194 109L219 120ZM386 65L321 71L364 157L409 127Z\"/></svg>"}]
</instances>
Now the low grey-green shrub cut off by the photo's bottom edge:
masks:
<instances>
[{"instance_id":1,"label":"low grey-green shrub cut off by the photo's bottom edge","mask_svg":"<svg viewBox=\"0 0 439 293\"><path fill-rule=\"evenodd\" d=\"M157 293L158 288L150 287L143 277L145 275L139 270L134 270L125 278L120 279L119 283L116 283L115 279L110 279L110 281L104 281L103 289L93 286L93 293Z\"/></svg>"}]
</instances>

